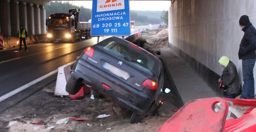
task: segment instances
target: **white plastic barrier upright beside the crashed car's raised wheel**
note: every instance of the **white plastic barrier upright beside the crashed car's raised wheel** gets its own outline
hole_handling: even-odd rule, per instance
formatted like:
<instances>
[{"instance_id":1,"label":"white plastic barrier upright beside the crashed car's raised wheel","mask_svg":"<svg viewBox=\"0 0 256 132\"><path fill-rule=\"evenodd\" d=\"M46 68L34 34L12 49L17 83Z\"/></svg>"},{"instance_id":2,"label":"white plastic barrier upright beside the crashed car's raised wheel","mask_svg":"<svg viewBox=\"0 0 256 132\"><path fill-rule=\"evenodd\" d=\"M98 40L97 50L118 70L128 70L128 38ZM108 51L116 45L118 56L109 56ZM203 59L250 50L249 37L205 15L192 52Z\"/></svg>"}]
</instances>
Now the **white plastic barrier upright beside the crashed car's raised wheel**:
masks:
<instances>
[{"instance_id":1,"label":"white plastic barrier upright beside the crashed car's raised wheel","mask_svg":"<svg viewBox=\"0 0 256 132\"><path fill-rule=\"evenodd\" d=\"M68 96L68 92L66 91L66 83L68 82L69 72L71 68L69 64L61 66L58 68L58 76L55 86L55 96Z\"/></svg>"}]
</instances>

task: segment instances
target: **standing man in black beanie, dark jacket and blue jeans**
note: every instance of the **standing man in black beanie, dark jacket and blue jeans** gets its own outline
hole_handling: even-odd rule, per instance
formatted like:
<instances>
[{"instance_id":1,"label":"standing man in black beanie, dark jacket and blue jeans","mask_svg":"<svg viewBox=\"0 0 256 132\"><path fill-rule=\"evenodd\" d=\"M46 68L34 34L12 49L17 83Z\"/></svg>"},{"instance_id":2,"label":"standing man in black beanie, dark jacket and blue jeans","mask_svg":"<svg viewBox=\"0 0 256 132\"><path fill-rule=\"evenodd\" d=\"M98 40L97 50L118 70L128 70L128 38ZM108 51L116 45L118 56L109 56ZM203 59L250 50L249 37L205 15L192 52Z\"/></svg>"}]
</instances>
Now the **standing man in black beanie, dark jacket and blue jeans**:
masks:
<instances>
[{"instance_id":1,"label":"standing man in black beanie, dark jacket and blue jeans","mask_svg":"<svg viewBox=\"0 0 256 132\"><path fill-rule=\"evenodd\" d=\"M254 77L253 68L256 61L256 29L250 23L249 17L241 16L239 24L244 31L244 36L241 40L238 57L242 59L242 70L244 85L242 88L241 99L254 98Z\"/></svg>"}]
</instances>

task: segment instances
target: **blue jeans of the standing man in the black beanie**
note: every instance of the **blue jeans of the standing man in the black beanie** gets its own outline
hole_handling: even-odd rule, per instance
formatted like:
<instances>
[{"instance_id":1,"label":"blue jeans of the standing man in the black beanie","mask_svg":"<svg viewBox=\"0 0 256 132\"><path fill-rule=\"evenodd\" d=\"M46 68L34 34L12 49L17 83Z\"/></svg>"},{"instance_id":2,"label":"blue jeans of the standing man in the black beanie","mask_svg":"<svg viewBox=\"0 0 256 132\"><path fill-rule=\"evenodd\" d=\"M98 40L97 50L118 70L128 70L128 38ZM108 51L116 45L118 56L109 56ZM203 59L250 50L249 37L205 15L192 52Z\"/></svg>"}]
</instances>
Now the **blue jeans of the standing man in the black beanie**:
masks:
<instances>
[{"instance_id":1,"label":"blue jeans of the standing man in the black beanie","mask_svg":"<svg viewBox=\"0 0 256 132\"><path fill-rule=\"evenodd\" d=\"M242 59L243 80L241 99L254 99L254 77L253 68L256 59Z\"/></svg>"}]
</instances>

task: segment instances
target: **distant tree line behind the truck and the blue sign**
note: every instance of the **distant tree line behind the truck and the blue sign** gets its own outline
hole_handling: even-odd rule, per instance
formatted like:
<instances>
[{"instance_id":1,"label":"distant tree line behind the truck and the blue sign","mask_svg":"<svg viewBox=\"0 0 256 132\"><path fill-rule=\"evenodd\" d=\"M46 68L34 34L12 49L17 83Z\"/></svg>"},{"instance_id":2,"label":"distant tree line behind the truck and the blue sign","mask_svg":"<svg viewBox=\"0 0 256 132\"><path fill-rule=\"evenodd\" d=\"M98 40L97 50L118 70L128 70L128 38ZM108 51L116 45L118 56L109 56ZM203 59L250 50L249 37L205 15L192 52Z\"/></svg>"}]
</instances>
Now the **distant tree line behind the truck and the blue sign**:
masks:
<instances>
[{"instance_id":1,"label":"distant tree line behind the truck and the blue sign","mask_svg":"<svg viewBox=\"0 0 256 132\"><path fill-rule=\"evenodd\" d=\"M68 10L71 8L80 9L79 13L79 21L80 22L88 22L92 18L92 10L88 8L84 8L83 6L76 6L71 2L51 2L50 6L45 6L46 10L46 18L50 14L54 13L68 13ZM148 24L159 24L160 22L164 22L163 19L160 18L161 11L138 11L138 10L130 10L130 19L148 23Z\"/></svg>"}]
</instances>

